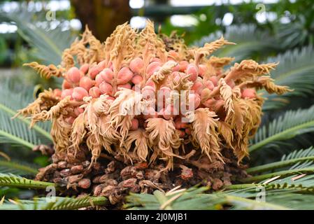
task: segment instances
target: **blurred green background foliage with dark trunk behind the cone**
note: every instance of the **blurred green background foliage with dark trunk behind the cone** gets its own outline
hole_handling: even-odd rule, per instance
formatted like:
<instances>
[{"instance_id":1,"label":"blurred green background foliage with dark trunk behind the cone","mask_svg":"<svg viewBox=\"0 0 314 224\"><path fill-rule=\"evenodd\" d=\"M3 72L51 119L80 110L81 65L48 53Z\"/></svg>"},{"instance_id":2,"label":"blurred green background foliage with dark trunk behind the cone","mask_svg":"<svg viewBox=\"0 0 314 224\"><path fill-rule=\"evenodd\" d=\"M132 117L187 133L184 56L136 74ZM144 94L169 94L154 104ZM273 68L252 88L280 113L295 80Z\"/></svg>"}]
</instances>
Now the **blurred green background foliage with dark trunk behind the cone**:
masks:
<instances>
[{"instance_id":1,"label":"blurred green background foliage with dark trunk behind the cone","mask_svg":"<svg viewBox=\"0 0 314 224\"><path fill-rule=\"evenodd\" d=\"M51 144L50 124L38 124L29 130L29 120L10 118L17 109L32 102L38 92L59 87L60 82L57 78L41 78L22 64L33 61L59 64L62 51L85 25L105 41L117 25L129 22L131 27L143 29L146 19L153 20L156 31L164 34L176 30L187 45L201 46L222 35L237 43L215 52L218 57L235 57L236 62L242 59L280 62L271 76L276 84L288 85L294 92L280 97L263 92L268 99L263 107L265 127L272 121L276 123L275 118L280 120L280 115L288 109L307 109L314 103L313 1L0 1L0 172L34 176L36 168L49 163L48 157L29 149ZM251 155L251 164L271 162L292 149L313 146L311 128L298 133L297 138L281 142L280 146L265 144L265 150ZM263 137L267 143L267 137L283 127L268 134L261 130L252 144L259 143ZM17 147L12 150L14 146ZM11 158L15 165L8 162ZM14 191L0 188L0 195L7 194L6 190Z\"/></svg>"}]
</instances>

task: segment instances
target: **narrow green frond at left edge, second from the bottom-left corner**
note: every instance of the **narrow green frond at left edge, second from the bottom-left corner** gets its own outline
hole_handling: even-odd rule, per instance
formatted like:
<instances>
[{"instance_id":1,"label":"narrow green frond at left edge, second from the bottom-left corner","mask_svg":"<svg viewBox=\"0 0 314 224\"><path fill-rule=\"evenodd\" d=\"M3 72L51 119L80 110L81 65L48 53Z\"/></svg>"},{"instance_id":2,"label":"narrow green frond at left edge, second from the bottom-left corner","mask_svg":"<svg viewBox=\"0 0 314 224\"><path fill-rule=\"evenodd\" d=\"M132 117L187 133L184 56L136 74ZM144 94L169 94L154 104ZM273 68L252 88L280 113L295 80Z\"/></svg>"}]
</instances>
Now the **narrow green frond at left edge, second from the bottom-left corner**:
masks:
<instances>
[{"instance_id":1,"label":"narrow green frond at left edge, second from the bottom-left corner","mask_svg":"<svg viewBox=\"0 0 314 224\"><path fill-rule=\"evenodd\" d=\"M0 174L0 187L30 189L45 189L47 187L57 188L55 183L34 181L21 176L15 176L13 174Z\"/></svg>"}]
</instances>

